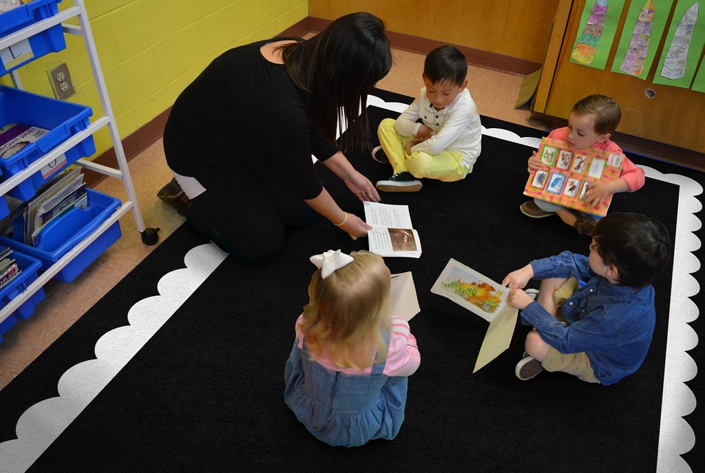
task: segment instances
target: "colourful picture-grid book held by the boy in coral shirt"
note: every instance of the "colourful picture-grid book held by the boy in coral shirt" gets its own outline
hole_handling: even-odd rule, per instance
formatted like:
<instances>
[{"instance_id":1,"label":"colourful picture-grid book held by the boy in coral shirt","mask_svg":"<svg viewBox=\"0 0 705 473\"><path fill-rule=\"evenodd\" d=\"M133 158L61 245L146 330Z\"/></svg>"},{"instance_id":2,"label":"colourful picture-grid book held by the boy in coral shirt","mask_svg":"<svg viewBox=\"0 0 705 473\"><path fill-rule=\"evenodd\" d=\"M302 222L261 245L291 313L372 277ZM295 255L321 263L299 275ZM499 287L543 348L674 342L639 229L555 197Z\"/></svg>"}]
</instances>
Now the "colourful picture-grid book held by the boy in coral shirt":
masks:
<instances>
[{"instance_id":1,"label":"colourful picture-grid book held by the boy in coral shirt","mask_svg":"<svg viewBox=\"0 0 705 473\"><path fill-rule=\"evenodd\" d=\"M624 155L602 149L570 149L567 142L544 138L539 145L539 158L548 170L539 169L529 174L524 194L539 200L605 216L612 196L597 207L585 200L588 190L601 180L619 177Z\"/></svg>"}]
</instances>

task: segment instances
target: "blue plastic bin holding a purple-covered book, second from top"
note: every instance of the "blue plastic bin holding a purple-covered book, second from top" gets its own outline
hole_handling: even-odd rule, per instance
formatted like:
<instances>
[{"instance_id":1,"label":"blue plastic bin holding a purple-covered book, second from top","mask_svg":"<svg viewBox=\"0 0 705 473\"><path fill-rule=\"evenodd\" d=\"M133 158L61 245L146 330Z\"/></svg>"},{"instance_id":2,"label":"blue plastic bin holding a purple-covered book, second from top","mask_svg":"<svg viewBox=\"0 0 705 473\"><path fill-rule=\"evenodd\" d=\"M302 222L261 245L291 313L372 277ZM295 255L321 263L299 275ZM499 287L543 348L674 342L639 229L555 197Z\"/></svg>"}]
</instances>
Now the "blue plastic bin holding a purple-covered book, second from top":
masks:
<instances>
[{"instance_id":1,"label":"blue plastic bin holding a purple-covered book, second from top","mask_svg":"<svg viewBox=\"0 0 705 473\"><path fill-rule=\"evenodd\" d=\"M49 133L26 145L15 154L8 158L0 158L0 168L3 174L1 179L10 178L23 171L75 133L85 130L90 125L88 118L92 114L90 106L63 102L0 85L0 128L9 123L21 123L49 130ZM0 155L3 152L2 145L4 143L0 143ZM91 135L69 149L64 154L66 163L54 166L52 174L44 176L42 171L34 173L30 178L10 190L8 194L16 199L27 201L35 197L35 190L44 181L51 178L54 173L94 152L95 142Z\"/></svg>"}]
</instances>

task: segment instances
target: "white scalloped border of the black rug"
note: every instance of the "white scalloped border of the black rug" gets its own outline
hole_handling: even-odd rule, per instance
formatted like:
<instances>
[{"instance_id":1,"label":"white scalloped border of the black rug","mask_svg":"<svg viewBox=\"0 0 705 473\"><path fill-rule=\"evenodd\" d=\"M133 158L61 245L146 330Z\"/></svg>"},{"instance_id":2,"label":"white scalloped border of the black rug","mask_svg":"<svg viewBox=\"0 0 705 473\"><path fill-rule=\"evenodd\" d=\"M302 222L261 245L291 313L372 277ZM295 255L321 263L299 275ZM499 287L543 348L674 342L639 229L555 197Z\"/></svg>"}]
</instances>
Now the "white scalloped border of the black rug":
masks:
<instances>
[{"instance_id":1,"label":"white scalloped border of the black rug","mask_svg":"<svg viewBox=\"0 0 705 473\"><path fill-rule=\"evenodd\" d=\"M399 113L407 107L398 102L384 102L372 95L368 97L368 104ZM499 128L483 126L482 133L534 148L538 148L541 141ZM680 188L656 471L692 472L680 455L695 444L694 433L683 417L693 412L696 405L694 394L685 382L697 374L697 364L687 350L698 343L697 333L688 322L699 315L689 296L700 290L691 274L700 268L693 252L700 247L694 231L701 227L695 214L702 206L695 196L700 195L703 188L685 176L663 174L647 166L642 168L647 178L664 180ZM158 296L141 300L130 309L129 326L115 328L98 340L95 360L76 364L61 376L58 397L43 400L22 414L17 423L18 438L0 443L2 471L16 473L28 469L226 256L213 243L190 250L184 257L185 269L171 271L159 280Z\"/></svg>"}]
</instances>

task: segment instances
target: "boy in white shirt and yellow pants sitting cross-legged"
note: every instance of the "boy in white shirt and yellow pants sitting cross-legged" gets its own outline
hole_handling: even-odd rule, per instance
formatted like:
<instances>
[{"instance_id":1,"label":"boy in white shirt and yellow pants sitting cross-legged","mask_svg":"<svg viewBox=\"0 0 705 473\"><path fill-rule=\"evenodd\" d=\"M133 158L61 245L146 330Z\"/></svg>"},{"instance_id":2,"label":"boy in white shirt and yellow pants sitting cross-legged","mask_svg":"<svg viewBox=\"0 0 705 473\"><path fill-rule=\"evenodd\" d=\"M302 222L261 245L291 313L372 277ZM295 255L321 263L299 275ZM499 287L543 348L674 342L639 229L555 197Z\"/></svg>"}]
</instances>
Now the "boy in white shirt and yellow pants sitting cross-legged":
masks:
<instances>
[{"instance_id":1,"label":"boy in white shirt and yellow pants sitting cross-legged","mask_svg":"<svg viewBox=\"0 0 705 473\"><path fill-rule=\"evenodd\" d=\"M394 173L376 187L386 192L416 192L420 178L453 182L465 178L480 154L482 125L467 88L467 60L452 46L431 51L424 61L420 97L394 120L377 129L376 161ZM421 119L423 123L417 123ZM386 155L386 156L384 156Z\"/></svg>"}]
</instances>

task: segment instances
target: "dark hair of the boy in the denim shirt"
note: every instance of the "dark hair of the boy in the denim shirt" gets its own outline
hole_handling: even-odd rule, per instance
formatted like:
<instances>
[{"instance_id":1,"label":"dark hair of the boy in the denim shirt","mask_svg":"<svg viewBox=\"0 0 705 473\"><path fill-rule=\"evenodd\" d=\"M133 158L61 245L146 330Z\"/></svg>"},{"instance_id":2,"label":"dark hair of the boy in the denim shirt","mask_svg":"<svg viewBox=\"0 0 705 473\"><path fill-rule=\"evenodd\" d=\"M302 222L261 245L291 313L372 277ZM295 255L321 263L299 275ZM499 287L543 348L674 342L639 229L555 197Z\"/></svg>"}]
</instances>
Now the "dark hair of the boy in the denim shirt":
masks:
<instances>
[{"instance_id":1,"label":"dark hair of the boy in the denim shirt","mask_svg":"<svg viewBox=\"0 0 705 473\"><path fill-rule=\"evenodd\" d=\"M615 266L618 285L649 285L670 258L670 236L660 221L642 214L609 214L590 233L595 251Z\"/></svg>"}]
</instances>

